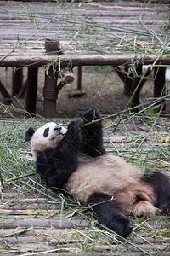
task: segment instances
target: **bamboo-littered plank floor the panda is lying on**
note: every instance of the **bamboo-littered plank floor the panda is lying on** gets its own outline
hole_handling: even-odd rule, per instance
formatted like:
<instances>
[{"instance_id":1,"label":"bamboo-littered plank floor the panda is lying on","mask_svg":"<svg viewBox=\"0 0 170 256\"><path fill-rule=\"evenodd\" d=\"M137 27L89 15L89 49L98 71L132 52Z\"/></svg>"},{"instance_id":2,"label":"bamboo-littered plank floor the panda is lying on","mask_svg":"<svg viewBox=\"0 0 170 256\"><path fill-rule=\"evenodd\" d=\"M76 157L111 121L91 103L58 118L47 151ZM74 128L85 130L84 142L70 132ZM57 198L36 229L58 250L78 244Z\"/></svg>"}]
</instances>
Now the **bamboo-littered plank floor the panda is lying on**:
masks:
<instances>
[{"instance_id":1,"label":"bamboo-littered plank floor the panda is lying on","mask_svg":"<svg viewBox=\"0 0 170 256\"><path fill-rule=\"evenodd\" d=\"M65 120L66 123L69 120ZM13 122L13 120L2 121L1 128L3 129L5 124L10 128ZM26 129L26 125L24 127L23 129ZM120 150L132 147L128 156L133 157L133 150L135 151L139 146L139 137L145 137L150 132L150 126L129 121L126 134L122 133L123 127L124 124L119 125L120 131L114 134L111 131L110 140ZM150 137L142 145L144 148L142 152L146 155L149 154L147 152L150 151L150 144L152 147L160 147L158 138L162 137L161 127L157 125L152 128ZM113 150L110 140L105 137L108 152ZM20 150L19 145L17 150ZM162 147L168 150L168 144L163 144ZM27 150L26 146L22 148L22 154ZM34 165L30 154L27 153L26 156L25 165L28 163ZM156 153L152 157L156 160ZM26 172L29 166L21 168ZM20 171L19 173L21 174ZM20 177L20 174L17 176ZM91 211L83 209L69 195L65 197L59 193L54 194L47 189L44 190L41 184L38 184L38 192L35 186L31 189L33 182L37 181L36 176L32 176L31 180L22 177L22 181L25 183L22 185L20 183L20 186L16 183L16 187L14 187L15 181L10 184L11 188L3 189L0 186L0 255L169 255L169 233L166 236L166 232L169 232L167 217L158 215L153 218L138 218L136 221L133 219L133 235L125 242L119 241L111 230L99 227L96 219L89 215ZM83 209L82 215L81 209Z\"/></svg>"}]
</instances>

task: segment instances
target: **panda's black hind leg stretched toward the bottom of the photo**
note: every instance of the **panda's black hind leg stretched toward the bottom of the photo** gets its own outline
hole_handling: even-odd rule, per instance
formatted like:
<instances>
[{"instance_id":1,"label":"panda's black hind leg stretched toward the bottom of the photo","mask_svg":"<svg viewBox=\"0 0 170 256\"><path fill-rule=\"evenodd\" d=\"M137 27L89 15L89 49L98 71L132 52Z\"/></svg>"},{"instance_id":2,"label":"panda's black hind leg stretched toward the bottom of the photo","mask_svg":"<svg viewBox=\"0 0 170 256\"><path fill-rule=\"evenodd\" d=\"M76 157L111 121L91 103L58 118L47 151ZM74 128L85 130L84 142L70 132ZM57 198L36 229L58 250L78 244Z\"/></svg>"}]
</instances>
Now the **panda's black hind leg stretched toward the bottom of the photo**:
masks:
<instances>
[{"instance_id":1,"label":"panda's black hind leg stretched toward the bottom of the photo","mask_svg":"<svg viewBox=\"0 0 170 256\"><path fill-rule=\"evenodd\" d=\"M88 198L87 205L91 205L99 218L99 223L106 225L117 234L127 237L133 230L132 220L126 218L116 205L116 200L111 200L111 195L94 193Z\"/></svg>"}]
</instances>

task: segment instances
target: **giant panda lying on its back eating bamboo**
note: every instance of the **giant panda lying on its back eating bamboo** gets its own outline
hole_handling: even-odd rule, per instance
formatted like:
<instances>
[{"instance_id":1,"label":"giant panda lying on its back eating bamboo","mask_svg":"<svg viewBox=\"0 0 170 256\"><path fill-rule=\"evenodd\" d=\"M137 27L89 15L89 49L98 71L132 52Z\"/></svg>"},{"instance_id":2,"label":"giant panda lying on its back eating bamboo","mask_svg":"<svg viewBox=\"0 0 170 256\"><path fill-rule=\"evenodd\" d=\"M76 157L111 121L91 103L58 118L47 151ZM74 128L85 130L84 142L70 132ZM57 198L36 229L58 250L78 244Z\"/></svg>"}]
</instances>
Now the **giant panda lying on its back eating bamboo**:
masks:
<instances>
[{"instance_id":1,"label":"giant panda lying on its back eating bamboo","mask_svg":"<svg viewBox=\"0 0 170 256\"><path fill-rule=\"evenodd\" d=\"M152 215L157 208L162 214L170 212L170 181L161 172L143 172L121 157L106 154L100 119L99 109L92 107L66 132L49 123L37 131L30 127L25 137L31 140L37 172L50 187L65 189L91 205L100 224L127 237L133 230L129 214Z\"/></svg>"}]
</instances>

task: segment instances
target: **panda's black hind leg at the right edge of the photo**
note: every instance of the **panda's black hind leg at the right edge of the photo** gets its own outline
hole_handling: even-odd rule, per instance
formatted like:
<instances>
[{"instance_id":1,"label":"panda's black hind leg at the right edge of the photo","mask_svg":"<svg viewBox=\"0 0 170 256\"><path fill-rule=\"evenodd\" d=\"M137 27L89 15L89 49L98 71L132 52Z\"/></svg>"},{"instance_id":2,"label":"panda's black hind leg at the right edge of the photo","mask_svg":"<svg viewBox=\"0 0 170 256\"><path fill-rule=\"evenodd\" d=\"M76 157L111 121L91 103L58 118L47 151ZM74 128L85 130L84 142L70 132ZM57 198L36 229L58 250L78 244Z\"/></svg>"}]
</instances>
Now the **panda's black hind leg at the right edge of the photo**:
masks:
<instances>
[{"instance_id":1,"label":"panda's black hind leg at the right edge of the photo","mask_svg":"<svg viewBox=\"0 0 170 256\"><path fill-rule=\"evenodd\" d=\"M156 207L162 214L170 213L170 179L161 172L144 172L144 183L149 184L156 193Z\"/></svg>"}]
</instances>

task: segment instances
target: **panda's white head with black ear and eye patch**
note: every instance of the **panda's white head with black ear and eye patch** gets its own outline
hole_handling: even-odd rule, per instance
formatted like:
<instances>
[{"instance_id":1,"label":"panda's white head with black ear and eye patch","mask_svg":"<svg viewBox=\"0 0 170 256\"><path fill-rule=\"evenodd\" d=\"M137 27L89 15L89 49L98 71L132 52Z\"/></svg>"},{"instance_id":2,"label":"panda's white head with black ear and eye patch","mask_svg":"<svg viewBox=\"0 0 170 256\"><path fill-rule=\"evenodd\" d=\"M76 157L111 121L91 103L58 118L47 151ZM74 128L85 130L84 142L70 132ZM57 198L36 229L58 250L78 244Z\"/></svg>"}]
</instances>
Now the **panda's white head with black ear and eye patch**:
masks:
<instances>
[{"instance_id":1,"label":"panda's white head with black ear and eye patch","mask_svg":"<svg viewBox=\"0 0 170 256\"><path fill-rule=\"evenodd\" d=\"M31 141L31 153L36 159L37 154L44 150L56 148L63 139L65 132L63 126L57 125L54 122L47 123L41 126L36 131L30 127L26 131L26 142Z\"/></svg>"}]
</instances>

